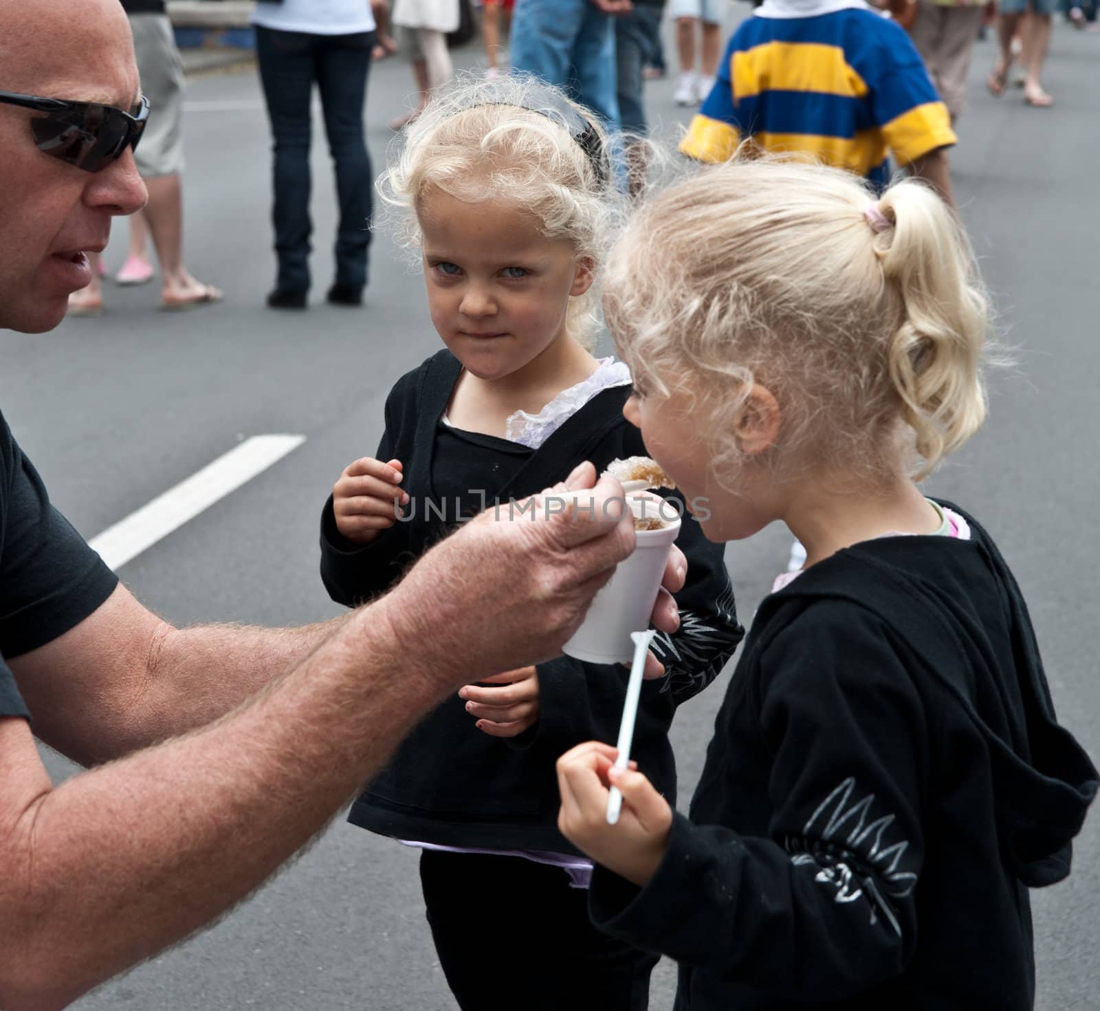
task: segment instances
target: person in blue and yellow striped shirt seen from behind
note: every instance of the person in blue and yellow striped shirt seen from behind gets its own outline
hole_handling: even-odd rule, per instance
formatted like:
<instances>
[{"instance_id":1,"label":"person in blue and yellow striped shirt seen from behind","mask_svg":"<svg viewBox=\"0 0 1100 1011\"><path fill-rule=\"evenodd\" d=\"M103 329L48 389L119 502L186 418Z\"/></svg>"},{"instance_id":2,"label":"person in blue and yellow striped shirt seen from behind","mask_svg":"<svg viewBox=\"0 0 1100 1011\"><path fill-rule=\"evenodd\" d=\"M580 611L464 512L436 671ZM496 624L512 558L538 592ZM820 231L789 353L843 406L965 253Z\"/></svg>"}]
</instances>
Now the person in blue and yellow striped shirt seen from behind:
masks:
<instances>
[{"instance_id":1,"label":"person in blue and yellow striped shirt seen from behind","mask_svg":"<svg viewBox=\"0 0 1100 1011\"><path fill-rule=\"evenodd\" d=\"M748 139L883 187L892 154L952 202L947 107L905 32L862 0L765 0L743 22L680 150L724 162Z\"/></svg>"}]
</instances>

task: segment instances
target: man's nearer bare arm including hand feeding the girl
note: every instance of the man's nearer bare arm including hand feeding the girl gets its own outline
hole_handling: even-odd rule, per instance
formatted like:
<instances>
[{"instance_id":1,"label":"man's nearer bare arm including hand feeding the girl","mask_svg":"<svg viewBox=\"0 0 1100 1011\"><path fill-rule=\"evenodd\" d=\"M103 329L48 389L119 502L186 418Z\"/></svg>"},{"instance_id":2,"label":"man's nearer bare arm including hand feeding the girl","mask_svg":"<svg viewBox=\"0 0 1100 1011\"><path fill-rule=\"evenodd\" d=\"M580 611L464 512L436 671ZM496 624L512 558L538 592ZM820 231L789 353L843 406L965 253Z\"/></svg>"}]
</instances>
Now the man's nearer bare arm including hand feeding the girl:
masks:
<instances>
[{"instance_id":1,"label":"man's nearer bare arm including hand feeding the girl","mask_svg":"<svg viewBox=\"0 0 1100 1011\"><path fill-rule=\"evenodd\" d=\"M596 502L620 495L602 482ZM0 718L0 1008L64 1008L186 937L311 838L432 704L558 656L632 547L622 514L479 517L215 725L57 789L25 723Z\"/></svg>"}]
</instances>

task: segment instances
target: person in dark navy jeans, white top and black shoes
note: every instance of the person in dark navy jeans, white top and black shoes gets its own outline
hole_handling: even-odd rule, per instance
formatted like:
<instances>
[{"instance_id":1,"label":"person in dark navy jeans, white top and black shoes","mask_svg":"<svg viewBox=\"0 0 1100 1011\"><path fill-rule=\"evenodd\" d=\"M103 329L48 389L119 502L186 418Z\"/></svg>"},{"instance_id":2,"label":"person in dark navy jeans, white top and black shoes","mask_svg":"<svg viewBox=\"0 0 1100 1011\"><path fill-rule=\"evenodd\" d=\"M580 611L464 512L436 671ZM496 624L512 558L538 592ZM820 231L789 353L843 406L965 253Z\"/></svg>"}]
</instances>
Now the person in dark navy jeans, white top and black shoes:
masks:
<instances>
[{"instance_id":1,"label":"person in dark navy jeans, white top and black shoes","mask_svg":"<svg viewBox=\"0 0 1100 1011\"><path fill-rule=\"evenodd\" d=\"M274 138L275 254L273 309L304 309L310 286L310 99L321 95L336 165L340 223L336 279L328 300L359 306L367 279L373 175L363 106L375 22L364 0L261 0L252 15L267 116Z\"/></svg>"}]
</instances>

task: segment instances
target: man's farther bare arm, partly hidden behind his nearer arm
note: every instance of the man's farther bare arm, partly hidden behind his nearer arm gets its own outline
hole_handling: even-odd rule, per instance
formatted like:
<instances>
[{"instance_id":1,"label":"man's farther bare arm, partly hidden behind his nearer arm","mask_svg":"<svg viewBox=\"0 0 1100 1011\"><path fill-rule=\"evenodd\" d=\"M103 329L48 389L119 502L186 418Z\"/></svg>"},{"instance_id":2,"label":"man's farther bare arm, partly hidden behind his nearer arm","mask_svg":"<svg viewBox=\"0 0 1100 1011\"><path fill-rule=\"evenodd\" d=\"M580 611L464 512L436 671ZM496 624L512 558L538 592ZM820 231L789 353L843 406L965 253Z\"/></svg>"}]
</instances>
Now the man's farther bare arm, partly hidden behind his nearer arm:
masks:
<instances>
[{"instance_id":1,"label":"man's farther bare arm, partly hidden behind his nearer arm","mask_svg":"<svg viewBox=\"0 0 1100 1011\"><path fill-rule=\"evenodd\" d=\"M35 735L90 766L211 723L346 618L302 628L177 629L120 583L79 625L9 667L35 714Z\"/></svg>"}]
</instances>

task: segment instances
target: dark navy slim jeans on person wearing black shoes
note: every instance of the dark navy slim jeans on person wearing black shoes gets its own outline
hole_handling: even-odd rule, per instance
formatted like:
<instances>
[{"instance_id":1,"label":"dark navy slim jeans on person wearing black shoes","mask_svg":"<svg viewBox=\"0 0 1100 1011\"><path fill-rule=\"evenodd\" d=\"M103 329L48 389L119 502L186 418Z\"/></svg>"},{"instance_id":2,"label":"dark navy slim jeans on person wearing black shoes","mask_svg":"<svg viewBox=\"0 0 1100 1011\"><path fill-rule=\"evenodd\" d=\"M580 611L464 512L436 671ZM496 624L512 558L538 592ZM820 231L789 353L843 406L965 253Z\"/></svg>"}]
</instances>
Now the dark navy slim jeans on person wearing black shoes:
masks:
<instances>
[{"instance_id":1,"label":"dark navy slim jeans on person wearing black shoes","mask_svg":"<svg viewBox=\"0 0 1100 1011\"><path fill-rule=\"evenodd\" d=\"M315 35L256 26L260 78L274 138L272 220L278 260L276 285L283 290L309 288L314 81L321 95L340 201L336 281L353 288L366 284L373 180L363 134L363 106L374 36L374 32Z\"/></svg>"}]
</instances>

